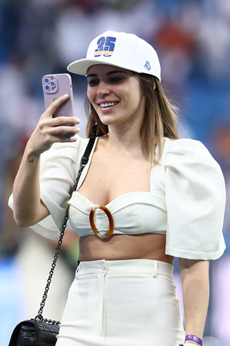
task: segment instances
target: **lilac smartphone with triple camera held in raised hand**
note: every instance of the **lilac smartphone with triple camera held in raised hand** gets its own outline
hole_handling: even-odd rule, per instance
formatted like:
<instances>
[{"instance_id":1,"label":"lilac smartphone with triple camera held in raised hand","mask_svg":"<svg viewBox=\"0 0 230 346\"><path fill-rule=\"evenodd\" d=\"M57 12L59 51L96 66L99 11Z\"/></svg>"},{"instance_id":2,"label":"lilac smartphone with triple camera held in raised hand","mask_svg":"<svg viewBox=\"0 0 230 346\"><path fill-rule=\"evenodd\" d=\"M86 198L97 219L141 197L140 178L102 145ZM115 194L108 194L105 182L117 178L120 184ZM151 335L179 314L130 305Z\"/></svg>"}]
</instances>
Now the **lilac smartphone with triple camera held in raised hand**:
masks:
<instances>
[{"instance_id":1,"label":"lilac smartphone with triple camera held in raised hand","mask_svg":"<svg viewBox=\"0 0 230 346\"><path fill-rule=\"evenodd\" d=\"M65 94L69 95L65 101L53 114L53 118L57 116L74 116L73 107L73 92L72 80L68 73L61 74L46 74L42 78L42 86L44 93L45 109L47 109L53 101ZM73 126L72 124L65 124L65 126ZM71 137L74 133L66 133L62 136Z\"/></svg>"}]
</instances>

